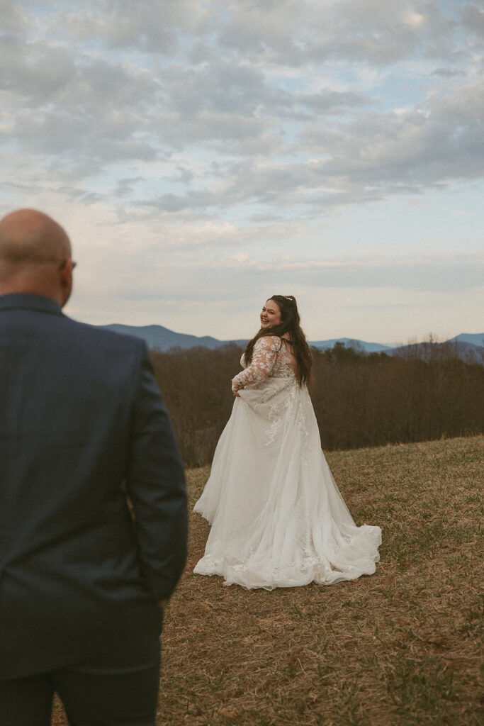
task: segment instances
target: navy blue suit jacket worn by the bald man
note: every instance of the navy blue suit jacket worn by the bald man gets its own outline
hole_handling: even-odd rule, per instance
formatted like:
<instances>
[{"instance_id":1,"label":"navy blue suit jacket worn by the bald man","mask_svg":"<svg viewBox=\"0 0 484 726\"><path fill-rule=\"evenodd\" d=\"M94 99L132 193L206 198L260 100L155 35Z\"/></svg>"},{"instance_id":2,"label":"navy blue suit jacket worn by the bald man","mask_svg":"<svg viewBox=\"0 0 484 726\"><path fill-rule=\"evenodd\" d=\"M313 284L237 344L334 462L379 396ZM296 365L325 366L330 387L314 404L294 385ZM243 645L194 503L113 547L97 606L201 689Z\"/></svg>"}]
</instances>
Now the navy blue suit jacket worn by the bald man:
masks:
<instances>
[{"instance_id":1,"label":"navy blue suit jacket worn by the bald man","mask_svg":"<svg viewBox=\"0 0 484 726\"><path fill-rule=\"evenodd\" d=\"M183 466L144 342L0 296L0 678L127 632L144 648L185 558Z\"/></svg>"}]
</instances>

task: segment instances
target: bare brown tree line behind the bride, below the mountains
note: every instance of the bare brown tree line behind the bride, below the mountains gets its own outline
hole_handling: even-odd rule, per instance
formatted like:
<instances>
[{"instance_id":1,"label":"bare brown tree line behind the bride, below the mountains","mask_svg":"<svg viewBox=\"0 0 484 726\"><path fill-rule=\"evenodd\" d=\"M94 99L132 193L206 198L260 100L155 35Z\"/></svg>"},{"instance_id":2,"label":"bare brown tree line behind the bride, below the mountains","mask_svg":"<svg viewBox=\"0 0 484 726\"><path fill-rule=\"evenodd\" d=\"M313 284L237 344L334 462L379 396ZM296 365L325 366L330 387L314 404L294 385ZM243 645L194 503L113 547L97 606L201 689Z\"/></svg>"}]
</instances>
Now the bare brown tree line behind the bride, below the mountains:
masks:
<instances>
[{"instance_id":1,"label":"bare brown tree line behind the bride, below the mountains","mask_svg":"<svg viewBox=\"0 0 484 726\"><path fill-rule=\"evenodd\" d=\"M484 364L463 360L453 343L430 338L391 356L342 343L312 351L310 393L327 451L484 432ZM186 466L212 460L241 353L233 344L151 353Z\"/></svg>"}]
</instances>

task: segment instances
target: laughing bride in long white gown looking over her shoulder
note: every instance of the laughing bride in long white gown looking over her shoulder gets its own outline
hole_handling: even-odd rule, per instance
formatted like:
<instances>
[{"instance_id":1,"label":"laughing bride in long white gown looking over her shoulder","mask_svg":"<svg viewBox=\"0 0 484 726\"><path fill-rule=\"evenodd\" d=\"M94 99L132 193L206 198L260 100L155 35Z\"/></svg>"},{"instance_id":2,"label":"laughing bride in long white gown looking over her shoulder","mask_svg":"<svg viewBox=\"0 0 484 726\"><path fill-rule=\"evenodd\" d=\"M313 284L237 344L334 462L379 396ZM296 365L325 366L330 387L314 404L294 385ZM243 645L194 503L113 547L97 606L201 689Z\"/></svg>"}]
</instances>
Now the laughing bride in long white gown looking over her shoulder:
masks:
<instances>
[{"instance_id":1,"label":"laughing bride in long white gown looking over her shoulder","mask_svg":"<svg viewBox=\"0 0 484 726\"><path fill-rule=\"evenodd\" d=\"M195 573L273 590L374 572L381 530L356 526L321 451L311 362L295 298L272 295L194 507L212 524Z\"/></svg>"}]
</instances>

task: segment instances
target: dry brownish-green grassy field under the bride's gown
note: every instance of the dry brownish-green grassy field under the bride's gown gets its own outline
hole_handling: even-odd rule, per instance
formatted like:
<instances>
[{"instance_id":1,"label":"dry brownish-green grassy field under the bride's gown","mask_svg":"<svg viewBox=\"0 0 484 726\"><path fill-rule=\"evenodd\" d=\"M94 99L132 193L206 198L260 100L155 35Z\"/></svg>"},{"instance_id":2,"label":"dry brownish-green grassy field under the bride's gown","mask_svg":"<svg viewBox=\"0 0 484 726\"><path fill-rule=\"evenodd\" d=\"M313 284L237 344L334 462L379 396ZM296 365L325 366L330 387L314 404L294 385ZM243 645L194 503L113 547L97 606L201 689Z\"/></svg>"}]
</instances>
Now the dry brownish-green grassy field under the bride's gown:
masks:
<instances>
[{"instance_id":1,"label":"dry brownish-green grassy field under the bride's gown","mask_svg":"<svg viewBox=\"0 0 484 726\"><path fill-rule=\"evenodd\" d=\"M160 726L483 723L484 437L327 459L356 522L382 527L376 574L223 587L192 574L208 534L192 515L189 563L165 618ZM192 505L207 477L188 472ZM59 707L52 723L65 723Z\"/></svg>"}]
</instances>

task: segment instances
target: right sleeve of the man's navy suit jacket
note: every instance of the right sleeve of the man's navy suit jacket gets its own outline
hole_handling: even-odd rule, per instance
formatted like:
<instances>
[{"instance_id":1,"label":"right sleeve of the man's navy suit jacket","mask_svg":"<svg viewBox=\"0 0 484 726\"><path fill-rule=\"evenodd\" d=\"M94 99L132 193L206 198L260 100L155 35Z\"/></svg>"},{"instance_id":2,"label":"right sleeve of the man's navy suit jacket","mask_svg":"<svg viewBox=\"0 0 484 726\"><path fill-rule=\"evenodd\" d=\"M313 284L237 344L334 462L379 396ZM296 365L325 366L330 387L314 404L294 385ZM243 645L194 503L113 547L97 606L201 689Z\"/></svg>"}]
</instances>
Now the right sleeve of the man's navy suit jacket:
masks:
<instances>
[{"instance_id":1,"label":"right sleeve of the man's navy suit jacket","mask_svg":"<svg viewBox=\"0 0 484 726\"><path fill-rule=\"evenodd\" d=\"M143 348L126 484L144 579L155 600L164 600L186 560L186 487L173 429Z\"/></svg>"}]
</instances>

